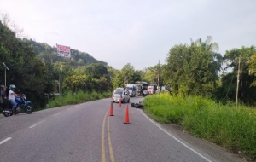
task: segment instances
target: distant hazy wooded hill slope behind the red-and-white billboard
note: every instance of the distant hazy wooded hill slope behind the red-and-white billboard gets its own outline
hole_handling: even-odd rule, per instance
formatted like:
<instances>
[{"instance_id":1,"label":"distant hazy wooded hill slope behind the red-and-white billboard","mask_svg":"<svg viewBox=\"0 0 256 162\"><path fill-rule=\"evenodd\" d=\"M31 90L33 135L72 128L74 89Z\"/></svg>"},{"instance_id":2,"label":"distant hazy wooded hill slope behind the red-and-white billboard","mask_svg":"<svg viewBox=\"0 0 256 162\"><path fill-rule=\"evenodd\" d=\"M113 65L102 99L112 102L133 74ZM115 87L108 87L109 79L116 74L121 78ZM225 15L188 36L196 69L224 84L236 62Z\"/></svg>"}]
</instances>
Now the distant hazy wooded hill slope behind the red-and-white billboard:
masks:
<instances>
[{"instance_id":1,"label":"distant hazy wooded hill slope behind the red-and-white billboard","mask_svg":"<svg viewBox=\"0 0 256 162\"><path fill-rule=\"evenodd\" d=\"M67 64L71 66L85 66L91 63L101 63L105 66L108 65L107 62L98 61L91 55L85 52L80 52L79 50L76 50L76 49L71 49L71 58L65 58L65 57L57 56L56 47L51 47L47 43L38 43L36 41L33 41L32 39L27 39L26 42L33 47L37 57L44 61L67 62Z\"/></svg>"}]
</instances>

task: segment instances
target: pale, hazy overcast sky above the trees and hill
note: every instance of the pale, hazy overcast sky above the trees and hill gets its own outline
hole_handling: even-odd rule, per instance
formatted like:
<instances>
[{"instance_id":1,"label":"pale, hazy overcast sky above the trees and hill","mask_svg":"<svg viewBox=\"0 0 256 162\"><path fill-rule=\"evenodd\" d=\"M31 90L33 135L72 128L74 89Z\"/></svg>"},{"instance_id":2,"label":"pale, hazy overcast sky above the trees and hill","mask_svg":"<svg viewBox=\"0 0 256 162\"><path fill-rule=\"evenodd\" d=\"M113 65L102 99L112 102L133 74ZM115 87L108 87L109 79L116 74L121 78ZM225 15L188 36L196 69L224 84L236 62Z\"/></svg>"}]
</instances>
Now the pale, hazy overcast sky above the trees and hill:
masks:
<instances>
[{"instance_id":1,"label":"pale, hazy overcast sky above the trees and hill","mask_svg":"<svg viewBox=\"0 0 256 162\"><path fill-rule=\"evenodd\" d=\"M222 55L256 45L255 7L255 0L0 0L0 12L26 38L69 46L119 70L165 64L173 46L207 36Z\"/></svg>"}]
</instances>

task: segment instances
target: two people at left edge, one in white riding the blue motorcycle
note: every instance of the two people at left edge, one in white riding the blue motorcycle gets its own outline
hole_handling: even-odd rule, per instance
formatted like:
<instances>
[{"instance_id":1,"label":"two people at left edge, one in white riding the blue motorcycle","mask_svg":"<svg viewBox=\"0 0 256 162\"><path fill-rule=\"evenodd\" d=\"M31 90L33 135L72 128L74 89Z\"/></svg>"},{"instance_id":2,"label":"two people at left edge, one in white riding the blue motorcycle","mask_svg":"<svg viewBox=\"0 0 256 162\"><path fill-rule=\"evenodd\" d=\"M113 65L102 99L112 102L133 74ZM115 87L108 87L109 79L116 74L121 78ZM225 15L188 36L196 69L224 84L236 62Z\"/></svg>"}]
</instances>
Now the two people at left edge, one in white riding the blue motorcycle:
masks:
<instances>
[{"instance_id":1,"label":"two people at left edge, one in white riding the blue motorcycle","mask_svg":"<svg viewBox=\"0 0 256 162\"><path fill-rule=\"evenodd\" d=\"M9 86L9 93L8 93L8 100L12 104L12 107L14 107L15 113L17 108L17 103L15 102L15 98L19 97L19 94L15 93L15 85L11 84ZM1 85L1 95L0 95L0 103L2 107L7 107L7 105L4 105L4 99L7 99L7 87L5 85Z\"/></svg>"}]
</instances>

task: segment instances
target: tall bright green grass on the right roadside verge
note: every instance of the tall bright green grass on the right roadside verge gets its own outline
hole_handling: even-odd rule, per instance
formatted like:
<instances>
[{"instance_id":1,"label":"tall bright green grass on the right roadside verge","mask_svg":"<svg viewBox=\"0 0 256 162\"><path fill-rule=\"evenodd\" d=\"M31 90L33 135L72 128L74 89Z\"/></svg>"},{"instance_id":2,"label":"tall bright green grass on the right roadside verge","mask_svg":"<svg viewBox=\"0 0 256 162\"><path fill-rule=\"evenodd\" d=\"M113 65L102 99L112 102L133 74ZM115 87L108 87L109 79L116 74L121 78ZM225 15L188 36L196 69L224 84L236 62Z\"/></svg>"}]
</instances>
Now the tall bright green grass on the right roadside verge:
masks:
<instances>
[{"instance_id":1,"label":"tall bright green grass on the right roadside verge","mask_svg":"<svg viewBox=\"0 0 256 162\"><path fill-rule=\"evenodd\" d=\"M222 105L202 97L149 95L145 113L156 121L180 124L193 136L217 143L233 153L256 157L256 110Z\"/></svg>"}]
</instances>

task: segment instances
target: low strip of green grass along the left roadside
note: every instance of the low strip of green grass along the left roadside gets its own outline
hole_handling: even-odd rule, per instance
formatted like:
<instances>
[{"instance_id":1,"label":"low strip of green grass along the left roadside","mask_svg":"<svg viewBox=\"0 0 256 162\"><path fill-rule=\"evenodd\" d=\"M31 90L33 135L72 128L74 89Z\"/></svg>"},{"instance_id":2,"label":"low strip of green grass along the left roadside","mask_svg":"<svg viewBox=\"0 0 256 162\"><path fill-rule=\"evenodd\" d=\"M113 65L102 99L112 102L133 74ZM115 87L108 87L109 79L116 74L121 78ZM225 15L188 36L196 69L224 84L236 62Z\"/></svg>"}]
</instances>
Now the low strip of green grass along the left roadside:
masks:
<instances>
[{"instance_id":1,"label":"low strip of green grass along the left roadside","mask_svg":"<svg viewBox=\"0 0 256 162\"><path fill-rule=\"evenodd\" d=\"M67 92L65 95L57 95L51 101L49 101L47 108L51 107L61 107L64 105L72 105L77 103L82 103L85 101L94 101L102 98L108 98L112 95L112 92L88 92L84 93L83 91L79 91L78 93L72 94L71 92Z\"/></svg>"}]
</instances>

